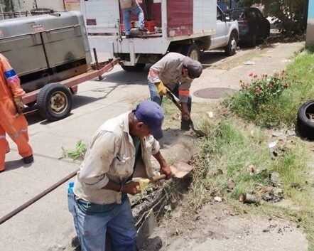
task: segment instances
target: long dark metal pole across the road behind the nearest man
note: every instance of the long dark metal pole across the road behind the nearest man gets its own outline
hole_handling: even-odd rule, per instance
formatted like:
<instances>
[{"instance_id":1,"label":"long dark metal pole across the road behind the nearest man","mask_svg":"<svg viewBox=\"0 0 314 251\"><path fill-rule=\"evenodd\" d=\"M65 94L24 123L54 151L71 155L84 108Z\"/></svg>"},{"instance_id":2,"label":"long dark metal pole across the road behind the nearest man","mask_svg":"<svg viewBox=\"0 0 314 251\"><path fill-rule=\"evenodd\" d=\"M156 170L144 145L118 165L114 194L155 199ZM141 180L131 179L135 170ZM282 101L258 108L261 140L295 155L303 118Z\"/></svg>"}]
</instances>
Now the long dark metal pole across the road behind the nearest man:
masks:
<instances>
[{"instance_id":1,"label":"long dark metal pole across the road behind the nearest man","mask_svg":"<svg viewBox=\"0 0 314 251\"><path fill-rule=\"evenodd\" d=\"M66 181L68 181L70 178L74 177L77 173L77 171L79 171L80 169L77 169L76 171L73 171L72 173L70 173L68 176L66 176L65 178L63 178L62 180L58 181L57 183L55 183L53 186L50 186L50 188L46 189L45 191L43 191L42 193L39 193L37 196L35 196L34 198L32 198L31 200L29 200L28 202L24 203L23 205L20 205L18 208L14 209L13 211L11 211L10 213L8 213L7 215L5 215L4 217L2 217L0 219L0 225L2 223L5 223L6 220L9 220L10 218L12 218L14 215L17 215L18 213L20 213L22 210L24 210L25 208L28 208L31 204L35 203L36 201L38 201L40 198L43 198L43 196L46 196L48 193L50 193L51 191L55 190L55 188L58 188L58 186L61 186L63 183L65 183Z\"/></svg>"}]
</instances>

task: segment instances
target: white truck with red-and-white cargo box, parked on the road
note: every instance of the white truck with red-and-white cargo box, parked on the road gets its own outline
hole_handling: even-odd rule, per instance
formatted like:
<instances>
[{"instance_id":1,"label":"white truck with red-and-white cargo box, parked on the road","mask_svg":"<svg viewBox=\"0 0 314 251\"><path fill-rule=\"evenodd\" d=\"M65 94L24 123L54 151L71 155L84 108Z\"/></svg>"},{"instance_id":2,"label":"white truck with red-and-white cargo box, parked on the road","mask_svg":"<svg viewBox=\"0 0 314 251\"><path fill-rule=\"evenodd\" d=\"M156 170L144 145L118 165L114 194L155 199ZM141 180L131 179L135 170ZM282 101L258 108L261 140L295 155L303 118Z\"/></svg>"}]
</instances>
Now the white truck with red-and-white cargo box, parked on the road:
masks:
<instances>
[{"instance_id":1,"label":"white truck with red-and-white cargo box, parked on the road","mask_svg":"<svg viewBox=\"0 0 314 251\"><path fill-rule=\"evenodd\" d=\"M199 59L205 50L237 49L239 26L223 14L215 0L139 1L146 21L155 24L150 33L126 38L123 15L117 0L81 1L90 48L119 58L124 70L142 70L168 52ZM134 17L133 17L134 18ZM136 16L133 19L136 23Z\"/></svg>"}]
</instances>

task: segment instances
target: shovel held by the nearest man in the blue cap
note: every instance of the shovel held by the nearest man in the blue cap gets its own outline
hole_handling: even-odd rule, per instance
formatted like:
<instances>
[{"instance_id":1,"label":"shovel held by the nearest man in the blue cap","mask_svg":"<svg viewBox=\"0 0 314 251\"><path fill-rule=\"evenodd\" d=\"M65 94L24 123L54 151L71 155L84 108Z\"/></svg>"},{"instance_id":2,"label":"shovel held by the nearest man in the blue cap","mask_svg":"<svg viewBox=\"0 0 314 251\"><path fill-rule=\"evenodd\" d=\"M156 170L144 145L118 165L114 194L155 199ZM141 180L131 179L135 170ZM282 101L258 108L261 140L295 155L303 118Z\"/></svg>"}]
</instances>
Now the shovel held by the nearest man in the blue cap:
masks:
<instances>
[{"instance_id":1,"label":"shovel held by the nearest man in the blue cap","mask_svg":"<svg viewBox=\"0 0 314 251\"><path fill-rule=\"evenodd\" d=\"M193 166L190 166L184 162L178 162L175 166L170 166L171 172L175 178L183 178L191 170L193 170L193 168ZM166 174L160 174L153 176L152 178L132 178L132 181L139 182L139 188L143 190L146 188L146 186L148 186L149 183L155 183L166 178Z\"/></svg>"}]
</instances>

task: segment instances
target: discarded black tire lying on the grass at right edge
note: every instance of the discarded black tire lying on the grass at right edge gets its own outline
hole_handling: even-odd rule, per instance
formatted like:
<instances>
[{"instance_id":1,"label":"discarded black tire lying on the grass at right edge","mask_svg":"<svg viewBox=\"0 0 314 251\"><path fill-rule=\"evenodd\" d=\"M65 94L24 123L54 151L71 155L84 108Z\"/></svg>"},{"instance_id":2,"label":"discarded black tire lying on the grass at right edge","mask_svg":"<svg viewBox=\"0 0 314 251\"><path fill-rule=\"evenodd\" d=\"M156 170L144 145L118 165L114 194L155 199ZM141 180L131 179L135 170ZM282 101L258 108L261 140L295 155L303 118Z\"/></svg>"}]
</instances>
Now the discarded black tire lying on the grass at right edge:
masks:
<instances>
[{"instance_id":1,"label":"discarded black tire lying on the grass at right edge","mask_svg":"<svg viewBox=\"0 0 314 251\"><path fill-rule=\"evenodd\" d=\"M298 110L297 127L302 137L314 140L314 100L301 105Z\"/></svg>"}]
</instances>

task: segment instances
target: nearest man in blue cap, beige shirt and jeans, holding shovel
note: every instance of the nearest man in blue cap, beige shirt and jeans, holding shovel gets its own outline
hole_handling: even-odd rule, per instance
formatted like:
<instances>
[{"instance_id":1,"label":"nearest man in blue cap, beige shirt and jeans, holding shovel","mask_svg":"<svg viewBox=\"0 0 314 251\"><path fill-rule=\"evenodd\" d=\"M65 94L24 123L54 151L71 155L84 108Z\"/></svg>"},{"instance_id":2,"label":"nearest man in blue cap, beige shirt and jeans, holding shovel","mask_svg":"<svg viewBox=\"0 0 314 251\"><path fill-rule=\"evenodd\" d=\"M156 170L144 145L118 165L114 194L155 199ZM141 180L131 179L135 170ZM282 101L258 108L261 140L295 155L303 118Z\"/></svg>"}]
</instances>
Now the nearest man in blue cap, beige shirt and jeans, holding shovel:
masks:
<instances>
[{"instance_id":1,"label":"nearest man in blue cap, beige shirt and jeans, holding shovel","mask_svg":"<svg viewBox=\"0 0 314 251\"><path fill-rule=\"evenodd\" d=\"M97 130L69 194L69 209L82 251L136 250L136 229L127 194L141 193L133 176L154 176L153 155L161 173L171 176L156 139L163 136L163 111L152 101L109 119Z\"/></svg>"}]
</instances>

